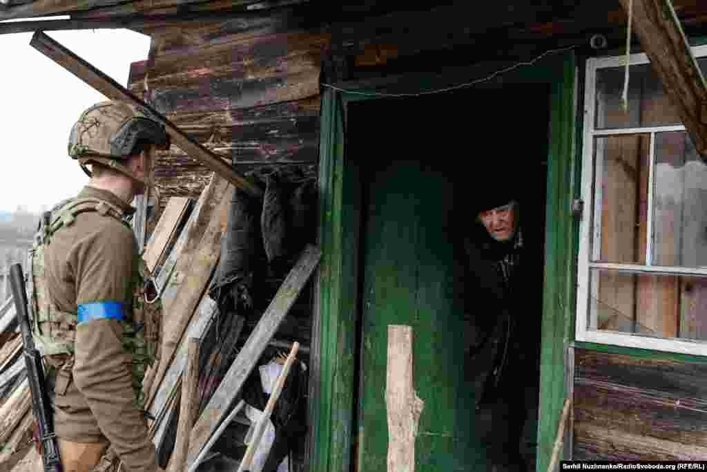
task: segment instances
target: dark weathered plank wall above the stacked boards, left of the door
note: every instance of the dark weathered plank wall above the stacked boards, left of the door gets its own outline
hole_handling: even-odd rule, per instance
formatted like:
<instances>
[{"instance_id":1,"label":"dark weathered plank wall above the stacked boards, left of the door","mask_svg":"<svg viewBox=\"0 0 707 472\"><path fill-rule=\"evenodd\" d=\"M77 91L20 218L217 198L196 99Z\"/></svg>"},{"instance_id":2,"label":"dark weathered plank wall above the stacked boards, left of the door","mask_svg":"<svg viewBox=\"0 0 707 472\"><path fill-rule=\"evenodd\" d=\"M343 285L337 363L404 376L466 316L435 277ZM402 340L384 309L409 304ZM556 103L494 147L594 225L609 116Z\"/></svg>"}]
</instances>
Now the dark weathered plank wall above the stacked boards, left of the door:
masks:
<instances>
[{"instance_id":1,"label":"dark weathered plank wall above the stacked boards, left of the door","mask_svg":"<svg viewBox=\"0 0 707 472\"><path fill-rule=\"evenodd\" d=\"M131 69L136 95L240 172L298 165L314 174L327 35L287 11L143 33L152 43ZM155 173L161 207L198 197L210 174L176 146Z\"/></svg>"}]
</instances>

